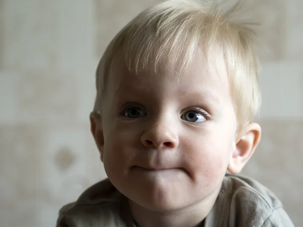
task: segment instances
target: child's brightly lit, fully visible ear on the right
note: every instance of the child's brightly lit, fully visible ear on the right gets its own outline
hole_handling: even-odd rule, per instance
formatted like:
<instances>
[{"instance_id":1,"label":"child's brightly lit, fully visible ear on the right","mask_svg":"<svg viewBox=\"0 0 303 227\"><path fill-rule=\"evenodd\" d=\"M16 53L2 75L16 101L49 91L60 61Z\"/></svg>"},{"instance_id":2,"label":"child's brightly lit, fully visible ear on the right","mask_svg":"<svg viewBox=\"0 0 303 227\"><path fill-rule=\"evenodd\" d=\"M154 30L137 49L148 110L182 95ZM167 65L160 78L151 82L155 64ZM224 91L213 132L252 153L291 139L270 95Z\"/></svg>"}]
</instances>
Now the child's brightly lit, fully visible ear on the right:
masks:
<instances>
[{"instance_id":1,"label":"child's brightly lit, fully visible ear on the right","mask_svg":"<svg viewBox=\"0 0 303 227\"><path fill-rule=\"evenodd\" d=\"M232 153L227 170L231 174L239 174L255 152L261 139L261 127L257 123L251 123L244 127L238 134L235 142L235 150Z\"/></svg>"}]
</instances>

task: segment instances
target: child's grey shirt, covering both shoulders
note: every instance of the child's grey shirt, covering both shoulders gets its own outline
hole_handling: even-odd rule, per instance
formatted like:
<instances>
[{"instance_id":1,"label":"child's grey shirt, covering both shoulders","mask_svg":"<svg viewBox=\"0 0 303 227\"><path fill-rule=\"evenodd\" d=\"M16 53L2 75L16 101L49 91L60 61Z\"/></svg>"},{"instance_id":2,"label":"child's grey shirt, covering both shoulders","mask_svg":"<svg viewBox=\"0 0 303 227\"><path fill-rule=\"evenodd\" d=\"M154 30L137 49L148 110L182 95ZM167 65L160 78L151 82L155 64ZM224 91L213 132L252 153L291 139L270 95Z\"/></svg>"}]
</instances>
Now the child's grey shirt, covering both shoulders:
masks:
<instances>
[{"instance_id":1,"label":"child's grey shirt, covering both shoulders","mask_svg":"<svg viewBox=\"0 0 303 227\"><path fill-rule=\"evenodd\" d=\"M136 227L128 199L106 179L87 189L59 212L57 227ZM204 227L292 227L281 202L257 181L226 174Z\"/></svg>"}]
</instances>

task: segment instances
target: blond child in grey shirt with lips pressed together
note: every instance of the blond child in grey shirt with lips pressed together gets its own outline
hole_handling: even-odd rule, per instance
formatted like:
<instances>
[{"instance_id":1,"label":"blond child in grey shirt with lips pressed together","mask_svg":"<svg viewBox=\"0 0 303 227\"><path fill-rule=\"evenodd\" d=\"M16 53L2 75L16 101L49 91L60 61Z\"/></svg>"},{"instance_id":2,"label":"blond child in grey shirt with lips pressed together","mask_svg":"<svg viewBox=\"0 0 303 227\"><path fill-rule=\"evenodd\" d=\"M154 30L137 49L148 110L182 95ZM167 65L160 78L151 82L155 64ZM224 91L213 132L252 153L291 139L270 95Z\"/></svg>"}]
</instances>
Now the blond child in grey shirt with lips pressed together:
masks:
<instances>
[{"instance_id":1,"label":"blond child in grey shirt with lips pressed together","mask_svg":"<svg viewBox=\"0 0 303 227\"><path fill-rule=\"evenodd\" d=\"M57 226L293 226L272 192L236 176L261 137L255 33L236 8L167 1L112 40L90 116L108 179Z\"/></svg>"}]
</instances>

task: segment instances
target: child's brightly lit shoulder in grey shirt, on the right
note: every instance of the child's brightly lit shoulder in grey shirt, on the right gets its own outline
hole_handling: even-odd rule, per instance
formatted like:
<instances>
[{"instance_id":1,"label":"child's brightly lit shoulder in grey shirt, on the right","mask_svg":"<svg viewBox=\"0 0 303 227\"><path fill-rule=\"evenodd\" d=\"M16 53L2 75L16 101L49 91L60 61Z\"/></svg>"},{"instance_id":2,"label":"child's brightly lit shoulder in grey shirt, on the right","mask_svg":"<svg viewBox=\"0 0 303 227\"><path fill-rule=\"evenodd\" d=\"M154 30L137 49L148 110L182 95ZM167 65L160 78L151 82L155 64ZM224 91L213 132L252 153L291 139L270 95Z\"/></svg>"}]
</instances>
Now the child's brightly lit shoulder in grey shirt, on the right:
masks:
<instances>
[{"instance_id":1,"label":"child's brightly lit shoulder in grey shirt, on the right","mask_svg":"<svg viewBox=\"0 0 303 227\"><path fill-rule=\"evenodd\" d=\"M293 226L273 192L256 180L231 174L224 177L209 223L218 216L216 226Z\"/></svg>"}]
</instances>

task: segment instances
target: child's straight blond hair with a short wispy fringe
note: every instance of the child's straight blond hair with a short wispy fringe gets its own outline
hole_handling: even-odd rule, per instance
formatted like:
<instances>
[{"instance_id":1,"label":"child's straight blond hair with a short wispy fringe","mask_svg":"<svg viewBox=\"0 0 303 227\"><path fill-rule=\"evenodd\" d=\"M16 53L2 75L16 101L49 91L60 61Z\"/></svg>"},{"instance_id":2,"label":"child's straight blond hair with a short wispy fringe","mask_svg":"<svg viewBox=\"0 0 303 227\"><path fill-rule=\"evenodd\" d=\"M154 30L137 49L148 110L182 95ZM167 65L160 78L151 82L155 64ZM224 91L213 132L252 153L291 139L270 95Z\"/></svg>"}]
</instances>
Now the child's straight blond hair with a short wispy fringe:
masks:
<instances>
[{"instance_id":1,"label":"child's straight blond hair with a short wispy fringe","mask_svg":"<svg viewBox=\"0 0 303 227\"><path fill-rule=\"evenodd\" d=\"M110 42L96 71L94 111L102 107L113 57L123 48L130 72L154 67L186 70L198 49L207 65L216 66L222 54L240 128L252 121L260 106L259 60L254 51L256 33L251 23L232 19L240 4L223 12L213 2L170 0L141 12ZM165 62L165 64L163 64ZM179 64L180 65L180 64Z\"/></svg>"}]
</instances>

